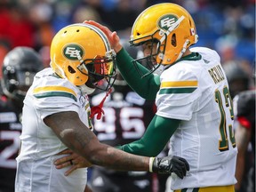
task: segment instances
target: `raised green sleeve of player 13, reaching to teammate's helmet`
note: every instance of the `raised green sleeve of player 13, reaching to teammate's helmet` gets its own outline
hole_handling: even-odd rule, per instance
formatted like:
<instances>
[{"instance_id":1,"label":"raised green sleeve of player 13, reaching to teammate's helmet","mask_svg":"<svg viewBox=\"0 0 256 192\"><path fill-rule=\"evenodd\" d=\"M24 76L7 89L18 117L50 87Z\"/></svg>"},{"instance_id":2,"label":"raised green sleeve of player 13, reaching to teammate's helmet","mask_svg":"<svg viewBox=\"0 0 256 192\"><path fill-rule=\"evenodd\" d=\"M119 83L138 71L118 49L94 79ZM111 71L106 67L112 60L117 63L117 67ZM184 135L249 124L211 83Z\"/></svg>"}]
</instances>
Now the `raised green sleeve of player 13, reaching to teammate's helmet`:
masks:
<instances>
[{"instance_id":1,"label":"raised green sleeve of player 13, reaching to teammate's helmet","mask_svg":"<svg viewBox=\"0 0 256 192\"><path fill-rule=\"evenodd\" d=\"M132 60L132 57L124 50L124 48L116 55L117 67L127 84L129 84L134 92L137 92L140 97L146 100L155 100L156 92L158 92L160 88L160 76L150 74L141 78L134 65L132 65ZM140 65L139 68L142 71L148 70L142 65Z\"/></svg>"}]
</instances>

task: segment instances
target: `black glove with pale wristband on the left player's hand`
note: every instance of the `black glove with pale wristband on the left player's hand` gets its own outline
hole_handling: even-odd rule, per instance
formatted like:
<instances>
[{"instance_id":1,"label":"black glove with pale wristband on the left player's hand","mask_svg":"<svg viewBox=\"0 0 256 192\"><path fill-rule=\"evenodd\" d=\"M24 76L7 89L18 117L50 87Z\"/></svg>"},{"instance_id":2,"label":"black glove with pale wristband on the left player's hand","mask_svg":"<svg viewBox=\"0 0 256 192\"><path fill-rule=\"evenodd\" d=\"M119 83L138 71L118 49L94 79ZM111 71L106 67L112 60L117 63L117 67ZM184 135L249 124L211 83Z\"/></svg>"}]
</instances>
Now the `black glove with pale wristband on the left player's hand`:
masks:
<instances>
[{"instance_id":1,"label":"black glove with pale wristband on the left player's hand","mask_svg":"<svg viewBox=\"0 0 256 192\"><path fill-rule=\"evenodd\" d=\"M180 156L150 157L149 172L174 172L180 179L183 179L187 171L189 171L189 164L186 159Z\"/></svg>"}]
</instances>

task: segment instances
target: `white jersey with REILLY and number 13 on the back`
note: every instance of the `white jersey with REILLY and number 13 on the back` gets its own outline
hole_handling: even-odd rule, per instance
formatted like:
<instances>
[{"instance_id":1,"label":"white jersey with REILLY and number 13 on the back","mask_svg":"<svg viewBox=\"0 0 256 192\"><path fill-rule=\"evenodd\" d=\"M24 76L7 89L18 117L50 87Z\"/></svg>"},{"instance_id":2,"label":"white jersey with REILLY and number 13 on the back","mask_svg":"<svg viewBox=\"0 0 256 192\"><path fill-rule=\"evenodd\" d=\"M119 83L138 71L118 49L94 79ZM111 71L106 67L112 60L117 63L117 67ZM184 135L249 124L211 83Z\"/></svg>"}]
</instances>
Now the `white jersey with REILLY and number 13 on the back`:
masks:
<instances>
[{"instance_id":1,"label":"white jersey with REILLY and number 13 on the back","mask_svg":"<svg viewBox=\"0 0 256 192\"><path fill-rule=\"evenodd\" d=\"M217 52L201 47L191 52L164 70L156 96L157 116L182 120L169 154L190 165L183 180L172 174L172 189L233 185L237 148L228 81Z\"/></svg>"}]
</instances>

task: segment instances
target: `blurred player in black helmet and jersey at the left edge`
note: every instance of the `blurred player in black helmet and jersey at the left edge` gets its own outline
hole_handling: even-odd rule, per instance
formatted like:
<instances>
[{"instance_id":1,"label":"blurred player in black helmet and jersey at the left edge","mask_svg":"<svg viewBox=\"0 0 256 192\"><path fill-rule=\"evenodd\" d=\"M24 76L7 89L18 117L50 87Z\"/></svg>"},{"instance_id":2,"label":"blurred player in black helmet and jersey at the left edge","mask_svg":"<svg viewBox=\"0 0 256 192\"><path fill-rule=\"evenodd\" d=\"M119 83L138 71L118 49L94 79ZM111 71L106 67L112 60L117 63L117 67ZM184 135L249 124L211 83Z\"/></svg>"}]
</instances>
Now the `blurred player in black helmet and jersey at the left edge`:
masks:
<instances>
[{"instance_id":1,"label":"blurred player in black helmet and jersey at the left edge","mask_svg":"<svg viewBox=\"0 0 256 192\"><path fill-rule=\"evenodd\" d=\"M0 100L0 191L13 192L20 148L20 117L23 100L36 72L43 69L39 54L19 46L8 52L2 66Z\"/></svg>"}]
</instances>

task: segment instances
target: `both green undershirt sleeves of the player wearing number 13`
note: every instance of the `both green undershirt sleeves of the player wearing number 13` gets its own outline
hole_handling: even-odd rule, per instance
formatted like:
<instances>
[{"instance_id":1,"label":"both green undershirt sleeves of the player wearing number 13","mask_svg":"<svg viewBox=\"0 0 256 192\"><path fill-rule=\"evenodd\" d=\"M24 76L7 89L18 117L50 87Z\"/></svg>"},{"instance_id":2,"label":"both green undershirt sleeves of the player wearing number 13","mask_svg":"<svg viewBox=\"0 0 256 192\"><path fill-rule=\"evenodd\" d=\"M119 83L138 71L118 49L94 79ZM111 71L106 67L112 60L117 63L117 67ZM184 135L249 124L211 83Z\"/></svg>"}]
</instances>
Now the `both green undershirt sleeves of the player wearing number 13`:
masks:
<instances>
[{"instance_id":1,"label":"both green undershirt sleeves of the player wearing number 13","mask_svg":"<svg viewBox=\"0 0 256 192\"><path fill-rule=\"evenodd\" d=\"M132 60L132 57L124 49L116 55L116 65L134 92L146 100L155 100L156 92L160 89L160 76L150 74L141 78L133 66ZM148 71L142 65L139 68L144 72ZM140 140L116 148L140 156L157 156L164 149L179 124L180 120L154 116Z\"/></svg>"}]
</instances>

